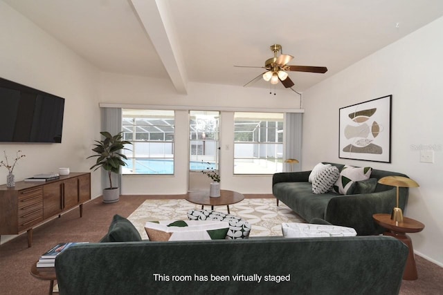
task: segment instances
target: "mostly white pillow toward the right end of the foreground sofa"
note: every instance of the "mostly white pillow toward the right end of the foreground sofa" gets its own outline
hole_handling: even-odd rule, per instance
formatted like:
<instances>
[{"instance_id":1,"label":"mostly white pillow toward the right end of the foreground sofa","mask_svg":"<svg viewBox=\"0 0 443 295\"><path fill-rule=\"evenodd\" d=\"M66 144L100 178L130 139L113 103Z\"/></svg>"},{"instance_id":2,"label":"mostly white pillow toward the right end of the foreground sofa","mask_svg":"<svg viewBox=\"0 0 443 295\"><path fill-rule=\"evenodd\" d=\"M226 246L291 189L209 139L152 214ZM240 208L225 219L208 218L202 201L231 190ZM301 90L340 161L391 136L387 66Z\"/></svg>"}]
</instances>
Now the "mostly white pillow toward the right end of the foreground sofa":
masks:
<instances>
[{"instance_id":1,"label":"mostly white pillow toward the right end of the foreground sofa","mask_svg":"<svg viewBox=\"0 0 443 295\"><path fill-rule=\"evenodd\" d=\"M356 236L352 227L338 225L314 225L309 223L284 222L282 223L284 238L312 238L325 236Z\"/></svg>"}]
</instances>

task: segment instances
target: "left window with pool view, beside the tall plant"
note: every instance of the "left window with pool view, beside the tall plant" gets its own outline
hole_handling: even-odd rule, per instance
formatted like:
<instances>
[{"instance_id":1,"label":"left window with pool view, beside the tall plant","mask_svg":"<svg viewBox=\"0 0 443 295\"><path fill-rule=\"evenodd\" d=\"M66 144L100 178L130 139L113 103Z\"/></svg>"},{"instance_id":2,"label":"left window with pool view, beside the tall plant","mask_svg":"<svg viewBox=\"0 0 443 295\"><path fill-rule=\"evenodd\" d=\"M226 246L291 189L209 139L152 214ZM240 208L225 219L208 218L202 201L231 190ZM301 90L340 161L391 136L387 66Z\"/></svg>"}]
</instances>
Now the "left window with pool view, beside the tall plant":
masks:
<instances>
[{"instance_id":1,"label":"left window with pool view, beside the tall plant","mask_svg":"<svg viewBox=\"0 0 443 295\"><path fill-rule=\"evenodd\" d=\"M174 111L122 111L123 138L132 142L123 150L123 174L174 174Z\"/></svg>"}]
</instances>

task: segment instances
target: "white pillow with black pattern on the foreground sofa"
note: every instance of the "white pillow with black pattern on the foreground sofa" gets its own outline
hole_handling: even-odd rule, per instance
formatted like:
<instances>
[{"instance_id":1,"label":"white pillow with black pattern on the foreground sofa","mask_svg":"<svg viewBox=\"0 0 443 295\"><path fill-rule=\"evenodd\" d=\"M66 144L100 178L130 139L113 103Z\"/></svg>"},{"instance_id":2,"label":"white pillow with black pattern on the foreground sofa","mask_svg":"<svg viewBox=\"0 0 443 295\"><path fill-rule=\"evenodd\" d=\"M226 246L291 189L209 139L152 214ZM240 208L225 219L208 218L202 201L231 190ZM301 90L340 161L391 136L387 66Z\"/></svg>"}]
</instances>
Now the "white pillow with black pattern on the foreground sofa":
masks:
<instances>
[{"instance_id":1,"label":"white pillow with black pattern on the foreground sofa","mask_svg":"<svg viewBox=\"0 0 443 295\"><path fill-rule=\"evenodd\" d=\"M251 233L251 224L241 217L217 211L193 210L188 211L189 220L220 220L229 222L227 239L248 238Z\"/></svg>"}]
</instances>

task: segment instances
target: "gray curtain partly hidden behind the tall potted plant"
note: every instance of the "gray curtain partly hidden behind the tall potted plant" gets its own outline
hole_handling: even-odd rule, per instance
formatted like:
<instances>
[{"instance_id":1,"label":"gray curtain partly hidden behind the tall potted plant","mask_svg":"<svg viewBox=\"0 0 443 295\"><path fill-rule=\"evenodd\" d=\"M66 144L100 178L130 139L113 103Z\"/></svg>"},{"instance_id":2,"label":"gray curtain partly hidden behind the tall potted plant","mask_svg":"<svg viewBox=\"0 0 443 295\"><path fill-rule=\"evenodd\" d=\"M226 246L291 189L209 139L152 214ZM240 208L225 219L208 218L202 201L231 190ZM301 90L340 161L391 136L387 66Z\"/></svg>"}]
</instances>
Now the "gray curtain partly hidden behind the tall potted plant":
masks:
<instances>
[{"instance_id":1,"label":"gray curtain partly hidden behind the tall potted plant","mask_svg":"<svg viewBox=\"0 0 443 295\"><path fill-rule=\"evenodd\" d=\"M116 135L122 131L122 109L121 108L102 108L102 130ZM101 139L100 139L101 140ZM119 187L122 193L122 175L112 173L112 186ZM108 173L102 170L102 187L109 187Z\"/></svg>"}]
</instances>

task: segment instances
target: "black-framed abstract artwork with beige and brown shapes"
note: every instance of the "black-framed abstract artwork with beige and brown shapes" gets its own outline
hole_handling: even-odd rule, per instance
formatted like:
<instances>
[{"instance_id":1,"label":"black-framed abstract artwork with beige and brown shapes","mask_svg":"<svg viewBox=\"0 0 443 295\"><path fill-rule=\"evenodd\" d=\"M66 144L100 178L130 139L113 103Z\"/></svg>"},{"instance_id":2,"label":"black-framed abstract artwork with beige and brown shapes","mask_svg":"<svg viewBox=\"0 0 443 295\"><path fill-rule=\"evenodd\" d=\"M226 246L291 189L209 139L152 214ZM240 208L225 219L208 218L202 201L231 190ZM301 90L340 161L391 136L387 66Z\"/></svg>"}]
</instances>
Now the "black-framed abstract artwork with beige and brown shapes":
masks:
<instances>
[{"instance_id":1,"label":"black-framed abstract artwork with beige and brown shapes","mask_svg":"<svg viewBox=\"0 0 443 295\"><path fill-rule=\"evenodd\" d=\"M338 158L390 163L392 95L345 106L338 113Z\"/></svg>"}]
</instances>

